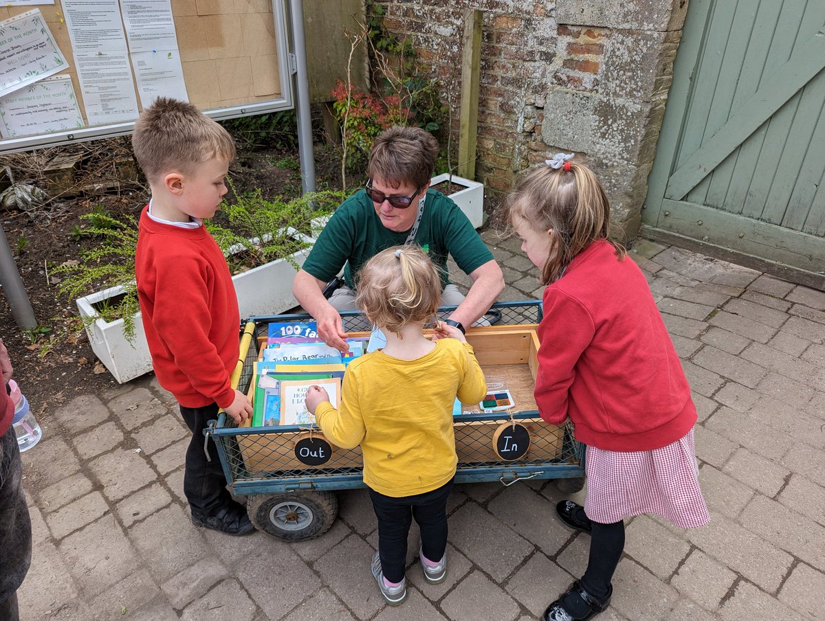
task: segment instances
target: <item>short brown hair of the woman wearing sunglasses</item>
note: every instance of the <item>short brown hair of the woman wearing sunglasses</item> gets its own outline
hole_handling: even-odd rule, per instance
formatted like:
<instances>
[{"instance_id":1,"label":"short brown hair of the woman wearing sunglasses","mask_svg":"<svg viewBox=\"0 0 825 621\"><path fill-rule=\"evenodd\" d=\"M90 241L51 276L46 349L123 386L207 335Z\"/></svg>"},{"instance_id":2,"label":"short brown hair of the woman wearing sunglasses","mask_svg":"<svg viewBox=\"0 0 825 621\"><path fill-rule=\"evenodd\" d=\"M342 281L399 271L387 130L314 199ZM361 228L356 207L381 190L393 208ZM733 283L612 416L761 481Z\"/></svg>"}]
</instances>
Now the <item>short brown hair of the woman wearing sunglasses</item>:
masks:
<instances>
[{"instance_id":1,"label":"short brown hair of the woman wearing sunglasses","mask_svg":"<svg viewBox=\"0 0 825 621\"><path fill-rule=\"evenodd\" d=\"M438 142L420 127L394 125L372 144L366 174L397 188L403 183L426 186L438 157Z\"/></svg>"}]
</instances>

